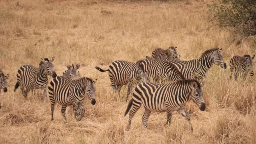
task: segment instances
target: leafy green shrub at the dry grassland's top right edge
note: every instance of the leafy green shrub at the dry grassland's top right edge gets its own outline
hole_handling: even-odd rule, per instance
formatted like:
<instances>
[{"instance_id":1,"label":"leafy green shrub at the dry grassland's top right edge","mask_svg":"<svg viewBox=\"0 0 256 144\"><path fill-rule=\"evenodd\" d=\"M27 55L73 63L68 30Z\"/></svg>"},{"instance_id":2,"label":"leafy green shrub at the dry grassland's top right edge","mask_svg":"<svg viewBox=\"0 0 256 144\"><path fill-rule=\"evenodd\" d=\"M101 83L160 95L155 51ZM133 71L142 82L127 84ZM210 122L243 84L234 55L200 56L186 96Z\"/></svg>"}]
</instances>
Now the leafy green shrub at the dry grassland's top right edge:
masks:
<instances>
[{"instance_id":1,"label":"leafy green shrub at the dry grassland's top right edge","mask_svg":"<svg viewBox=\"0 0 256 144\"><path fill-rule=\"evenodd\" d=\"M208 7L212 24L243 36L256 35L256 0L218 0Z\"/></svg>"}]
</instances>

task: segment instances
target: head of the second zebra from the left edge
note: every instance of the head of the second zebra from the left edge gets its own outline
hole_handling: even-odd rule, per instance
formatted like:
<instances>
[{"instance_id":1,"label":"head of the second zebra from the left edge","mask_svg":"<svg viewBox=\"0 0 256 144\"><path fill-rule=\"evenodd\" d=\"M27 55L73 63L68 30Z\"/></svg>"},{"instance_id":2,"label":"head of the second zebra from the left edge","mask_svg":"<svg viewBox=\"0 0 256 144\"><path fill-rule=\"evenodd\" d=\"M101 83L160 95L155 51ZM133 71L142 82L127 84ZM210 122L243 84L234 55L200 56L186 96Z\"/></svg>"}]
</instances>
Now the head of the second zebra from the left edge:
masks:
<instances>
[{"instance_id":1,"label":"head of the second zebra from the left edge","mask_svg":"<svg viewBox=\"0 0 256 144\"><path fill-rule=\"evenodd\" d=\"M41 59L42 61L39 64L40 67L44 67L46 74L55 78L57 74L56 72L54 72L54 65L52 64L52 62L54 61L54 57L52 57L50 60L48 58Z\"/></svg>"}]
</instances>

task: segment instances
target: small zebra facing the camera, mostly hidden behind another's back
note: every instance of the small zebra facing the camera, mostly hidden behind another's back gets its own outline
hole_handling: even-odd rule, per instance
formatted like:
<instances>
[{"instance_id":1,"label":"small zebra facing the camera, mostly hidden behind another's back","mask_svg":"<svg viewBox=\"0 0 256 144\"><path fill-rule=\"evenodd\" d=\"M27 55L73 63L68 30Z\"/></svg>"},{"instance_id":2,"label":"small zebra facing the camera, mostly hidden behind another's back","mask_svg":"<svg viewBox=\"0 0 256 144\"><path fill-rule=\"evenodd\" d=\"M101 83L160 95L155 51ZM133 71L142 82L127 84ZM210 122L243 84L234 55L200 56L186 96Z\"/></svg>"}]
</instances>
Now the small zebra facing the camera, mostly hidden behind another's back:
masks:
<instances>
[{"instance_id":1,"label":"small zebra facing the camera, mostly hidden behind another's back","mask_svg":"<svg viewBox=\"0 0 256 144\"><path fill-rule=\"evenodd\" d=\"M68 80L77 80L81 78L81 75L78 71L78 68L80 67L79 64L74 67L74 64L72 66L67 66L68 70L65 70L62 74L63 77L67 78Z\"/></svg>"}]
</instances>

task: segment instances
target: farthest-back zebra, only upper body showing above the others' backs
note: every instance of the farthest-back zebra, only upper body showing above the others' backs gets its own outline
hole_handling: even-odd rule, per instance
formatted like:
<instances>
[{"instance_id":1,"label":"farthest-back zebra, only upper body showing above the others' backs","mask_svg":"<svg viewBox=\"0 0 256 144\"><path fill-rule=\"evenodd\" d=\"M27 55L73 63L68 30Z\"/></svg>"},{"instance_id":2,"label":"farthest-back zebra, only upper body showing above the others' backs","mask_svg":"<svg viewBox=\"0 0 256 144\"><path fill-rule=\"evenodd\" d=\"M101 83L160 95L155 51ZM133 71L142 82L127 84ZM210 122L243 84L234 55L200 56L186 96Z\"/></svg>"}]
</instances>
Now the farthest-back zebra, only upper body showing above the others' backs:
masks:
<instances>
[{"instance_id":1,"label":"farthest-back zebra, only upper body showing above the others' backs","mask_svg":"<svg viewBox=\"0 0 256 144\"><path fill-rule=\"evenodd\" d=\"M157 48L152 52L152 58L157 60L172 60L177 54L177 46L170 46L167 50L163 50L162 48Z\"/></svg>"}]
</instances>

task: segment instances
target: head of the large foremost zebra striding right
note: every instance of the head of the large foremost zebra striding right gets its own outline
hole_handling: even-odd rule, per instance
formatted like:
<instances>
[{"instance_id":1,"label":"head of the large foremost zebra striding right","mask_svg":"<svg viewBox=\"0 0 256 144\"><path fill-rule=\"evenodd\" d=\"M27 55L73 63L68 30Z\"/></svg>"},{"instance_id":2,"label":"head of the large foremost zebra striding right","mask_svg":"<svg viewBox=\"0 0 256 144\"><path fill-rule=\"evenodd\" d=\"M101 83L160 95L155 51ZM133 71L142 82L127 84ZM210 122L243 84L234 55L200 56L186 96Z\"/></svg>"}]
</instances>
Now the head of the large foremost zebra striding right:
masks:
<instances>
[{"instance_id":1,"label":"head of the large foremost zebra striding right","mask_svg":"<svg viewBox=\"0 0 256 144\"><path fill-rule=\"evenodd\" d=\"M205 110L205 103L203 98L203 92L199 82L194 81L192 84L194 90L192 91L192 101L196 103L201 111Z\"/></svg>"}]
</instances>

